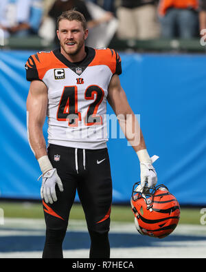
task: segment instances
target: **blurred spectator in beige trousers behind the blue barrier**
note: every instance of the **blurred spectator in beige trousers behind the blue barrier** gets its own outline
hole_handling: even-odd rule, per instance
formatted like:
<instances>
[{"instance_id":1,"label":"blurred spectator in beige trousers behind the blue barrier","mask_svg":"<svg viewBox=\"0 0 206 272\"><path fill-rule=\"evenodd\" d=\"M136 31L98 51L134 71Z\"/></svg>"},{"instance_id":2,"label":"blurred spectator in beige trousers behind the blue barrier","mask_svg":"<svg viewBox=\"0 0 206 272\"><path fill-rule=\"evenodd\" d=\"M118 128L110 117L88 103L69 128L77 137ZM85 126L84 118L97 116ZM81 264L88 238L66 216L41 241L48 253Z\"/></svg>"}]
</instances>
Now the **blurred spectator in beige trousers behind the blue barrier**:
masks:
<instances>
[{"instance_id":1,"label":"blurred spectator in beige trousers behind the blue barrier","mask_svg":"<svg viewBox=\"0 0 206 272\"><path fill-rule=\"evenodd\" d=\"M155 0L122 0L117 8L119 39L155 39L159 37Z\"/></svg>"}]
</instances>

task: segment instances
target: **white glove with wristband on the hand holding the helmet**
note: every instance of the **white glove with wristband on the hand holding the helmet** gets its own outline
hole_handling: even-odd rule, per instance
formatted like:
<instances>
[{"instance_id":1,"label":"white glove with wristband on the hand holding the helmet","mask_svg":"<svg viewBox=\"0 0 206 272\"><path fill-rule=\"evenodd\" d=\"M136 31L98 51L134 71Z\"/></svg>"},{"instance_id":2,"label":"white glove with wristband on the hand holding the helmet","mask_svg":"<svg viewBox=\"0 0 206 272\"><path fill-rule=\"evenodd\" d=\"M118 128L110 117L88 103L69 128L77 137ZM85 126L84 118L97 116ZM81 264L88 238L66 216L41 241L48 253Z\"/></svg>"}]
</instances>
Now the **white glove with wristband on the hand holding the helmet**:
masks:
<instances>
[{"instance_id":1,"label":"white glove with wristband on the hand holding the helmet","mask_svg":"<svg viewBox=\"0 0 206 272\"><path fill-rule=\"evenodd\" d=\"M139 152L139 153L138 153ZM148 156L146 149L140 150L137 152L137 156L139 157L140 161L140 178L141 178L141 185L138 187L138 191L143 191L144 187L155 187L157 184L157 173L155 168L152 166L152 163L155 163L158 156Z\"/></svg>"}]
</instances>

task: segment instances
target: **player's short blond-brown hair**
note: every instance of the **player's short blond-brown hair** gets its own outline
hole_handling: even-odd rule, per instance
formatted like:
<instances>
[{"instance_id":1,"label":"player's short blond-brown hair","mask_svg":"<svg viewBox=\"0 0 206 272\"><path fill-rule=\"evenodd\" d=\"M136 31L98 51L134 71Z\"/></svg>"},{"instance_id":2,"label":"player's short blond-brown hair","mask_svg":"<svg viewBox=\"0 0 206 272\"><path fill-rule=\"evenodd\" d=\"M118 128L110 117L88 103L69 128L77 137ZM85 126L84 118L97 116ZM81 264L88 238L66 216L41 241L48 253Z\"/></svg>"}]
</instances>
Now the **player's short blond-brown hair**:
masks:
<instances>
[{"instance_id":1,"label":"player's short blond-brown hair","mask_svg":"<svg viewBox=\"0 0 206 272\"><path fill-rule=\"evenodd\" d=\"M68 21L80 21L82 23L82 27L84 30L87 29L87 21L84 18L84 15L81 12L78 12L77 10L67 10L65 12L62 12L60 17L57 19L57 29L59 28L59 22L63 19L66 19Z\"/></svg>"}]
</instances>

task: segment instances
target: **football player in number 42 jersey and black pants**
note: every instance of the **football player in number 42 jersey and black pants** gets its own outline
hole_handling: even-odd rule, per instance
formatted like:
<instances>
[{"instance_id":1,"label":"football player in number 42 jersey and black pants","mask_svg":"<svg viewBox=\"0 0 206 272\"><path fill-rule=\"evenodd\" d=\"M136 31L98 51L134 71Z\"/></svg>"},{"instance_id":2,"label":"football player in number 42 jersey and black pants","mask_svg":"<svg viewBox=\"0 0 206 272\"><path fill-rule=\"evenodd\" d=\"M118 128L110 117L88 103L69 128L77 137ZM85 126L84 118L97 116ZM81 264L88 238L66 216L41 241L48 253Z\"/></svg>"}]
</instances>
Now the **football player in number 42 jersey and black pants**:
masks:
<instances>
[{"instance_id":1,"label":"football player in number 42 jersey and black pants","mask_svg":"<svg viewBox=\"0 0 206 272\"><path fill-rule=\"evenodd\" d=\"M91 238L90 258L109 258L112 202L106 147L106 100L137 152L141 185L152 187L157 174L144 137L121 87L121 59L115 50L87 48L87 24L80 12L63 12L57 21L60 49L30 56L27 96L30 146L42 171L41 198L46 222L43 258L62 258L69 211L78 191ZM48 117L48 143L43 124Z\"/></svg>"}]
</instances>

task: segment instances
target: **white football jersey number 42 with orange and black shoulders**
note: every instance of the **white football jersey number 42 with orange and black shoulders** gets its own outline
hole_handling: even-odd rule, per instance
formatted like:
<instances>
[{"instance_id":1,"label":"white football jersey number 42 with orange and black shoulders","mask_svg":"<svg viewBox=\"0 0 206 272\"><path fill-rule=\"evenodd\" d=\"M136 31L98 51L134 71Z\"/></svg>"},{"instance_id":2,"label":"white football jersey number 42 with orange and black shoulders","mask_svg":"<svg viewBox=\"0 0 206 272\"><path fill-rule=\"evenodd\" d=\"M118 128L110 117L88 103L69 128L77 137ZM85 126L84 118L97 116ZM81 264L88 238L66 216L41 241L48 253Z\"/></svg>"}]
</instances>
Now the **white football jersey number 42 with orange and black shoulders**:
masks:
<instances>
[{"instance_id":1,"label":"white football jersey number 42 with orange and black shoulders","mask_svg":"<svg viewBox=\"0 0 206 272\"><path fill-rule=\"evenodd\" d=\"M40 80L48 90L48 143L82 149L106 147L106 97L113 74L121 74L115 50L87 48L80 63L60 53L39 52L25 67L27 80Z\"/></svg>"}]
</instances>

